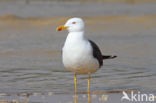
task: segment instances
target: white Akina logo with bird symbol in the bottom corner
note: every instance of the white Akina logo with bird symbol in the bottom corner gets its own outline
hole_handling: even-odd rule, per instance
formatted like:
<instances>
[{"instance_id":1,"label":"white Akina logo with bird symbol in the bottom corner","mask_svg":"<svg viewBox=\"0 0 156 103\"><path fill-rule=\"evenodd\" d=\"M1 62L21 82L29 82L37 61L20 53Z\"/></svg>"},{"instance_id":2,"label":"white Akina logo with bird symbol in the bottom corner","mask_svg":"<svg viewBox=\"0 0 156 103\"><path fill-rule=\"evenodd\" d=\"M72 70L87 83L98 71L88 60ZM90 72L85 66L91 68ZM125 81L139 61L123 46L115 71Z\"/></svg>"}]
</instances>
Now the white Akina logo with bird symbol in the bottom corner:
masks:
<instances>
[{"instance_id":1,"label":"white Akina logo with bird symbol in the bottom corner","mask_svg":"<svg viewBox=\"0 0 156 103\"><path fill-rule=\"evenodd\" d=\"M131 93L128 95L125 91L122 92L123 96L121 98L121 101L127 100L127 101L149 101L153 102L155 101L154 94L141 94L141 92L134 93L134 91L131 91Z\"/></svg>"}]
</instances>

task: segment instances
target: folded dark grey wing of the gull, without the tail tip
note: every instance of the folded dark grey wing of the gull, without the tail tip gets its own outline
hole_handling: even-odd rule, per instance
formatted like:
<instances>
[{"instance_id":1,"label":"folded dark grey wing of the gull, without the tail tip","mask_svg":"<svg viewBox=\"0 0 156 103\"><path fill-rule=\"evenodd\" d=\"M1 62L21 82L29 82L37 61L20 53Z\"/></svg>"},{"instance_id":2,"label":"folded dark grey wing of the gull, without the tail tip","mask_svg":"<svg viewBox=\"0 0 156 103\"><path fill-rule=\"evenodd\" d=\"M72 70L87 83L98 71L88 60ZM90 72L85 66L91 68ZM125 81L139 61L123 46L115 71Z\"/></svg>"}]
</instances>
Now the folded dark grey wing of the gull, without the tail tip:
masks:
<instances>
[{"instance_id":1,"label":"folded dark grey wing of the gull, without the tail tip","mask_svg":"<svg viewBox=\"0 0 156 103\"><path fill-rule=\"evenodd\" d=\"M91 40L88 40L93 48L93 56L96 58L99 62L99 67L103 65L103 56L99 49L99 47Z\"/></svg>"}]
</instances>

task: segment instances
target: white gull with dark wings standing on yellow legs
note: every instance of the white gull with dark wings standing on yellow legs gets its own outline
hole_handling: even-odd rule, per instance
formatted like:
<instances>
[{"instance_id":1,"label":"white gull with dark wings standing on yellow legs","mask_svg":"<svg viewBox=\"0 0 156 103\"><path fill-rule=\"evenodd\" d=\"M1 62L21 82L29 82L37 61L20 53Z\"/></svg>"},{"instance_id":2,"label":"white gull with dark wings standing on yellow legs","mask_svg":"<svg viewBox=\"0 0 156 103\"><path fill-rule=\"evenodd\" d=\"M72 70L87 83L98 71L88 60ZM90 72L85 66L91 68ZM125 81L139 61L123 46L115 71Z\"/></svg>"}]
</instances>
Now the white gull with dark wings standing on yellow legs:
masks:
<instances>
[{"instance_id":1,"label":"white gull with dark wings standing on yellow legs","mask_svg":"<svg viewBox=\"0 0 156 103\"><path fill-rule=\"evenodd\" d=\"M85 38L85 23L81 18L69 19L65 25L57 27L57 31L68 30L68 36L62 48L62 61L69 71L74 72L75 94L77 93L77 74L88 75L88 93L90 91L90 74L103 66L104 59L117 56L102 55L99 47Z\"/></svg>"}]
</instances>

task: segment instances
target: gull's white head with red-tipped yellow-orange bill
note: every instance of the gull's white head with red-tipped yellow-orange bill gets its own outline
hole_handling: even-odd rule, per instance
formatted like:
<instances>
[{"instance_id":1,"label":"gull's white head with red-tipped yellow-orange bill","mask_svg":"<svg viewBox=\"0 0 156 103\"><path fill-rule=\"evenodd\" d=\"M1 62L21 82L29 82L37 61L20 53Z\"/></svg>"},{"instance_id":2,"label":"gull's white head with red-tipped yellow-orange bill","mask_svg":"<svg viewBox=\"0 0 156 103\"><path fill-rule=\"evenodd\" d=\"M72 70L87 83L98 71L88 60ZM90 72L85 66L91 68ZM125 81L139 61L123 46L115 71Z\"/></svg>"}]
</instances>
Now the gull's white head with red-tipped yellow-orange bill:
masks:
<instances>
[{"instance_id":1,"label":"gull's white head with red-tipped yellow-orange bill","mask_svg":"<svg viewBox=\"0 0 156 103\"><path fill-rule=\"evenodd\" d=\"M59 26L56 30L62 31L63 29L67 29L69 32L81 32L84 31L84 26L85 24L81 18L71 18L65 25Z\"/></svg>"}]
</instances>

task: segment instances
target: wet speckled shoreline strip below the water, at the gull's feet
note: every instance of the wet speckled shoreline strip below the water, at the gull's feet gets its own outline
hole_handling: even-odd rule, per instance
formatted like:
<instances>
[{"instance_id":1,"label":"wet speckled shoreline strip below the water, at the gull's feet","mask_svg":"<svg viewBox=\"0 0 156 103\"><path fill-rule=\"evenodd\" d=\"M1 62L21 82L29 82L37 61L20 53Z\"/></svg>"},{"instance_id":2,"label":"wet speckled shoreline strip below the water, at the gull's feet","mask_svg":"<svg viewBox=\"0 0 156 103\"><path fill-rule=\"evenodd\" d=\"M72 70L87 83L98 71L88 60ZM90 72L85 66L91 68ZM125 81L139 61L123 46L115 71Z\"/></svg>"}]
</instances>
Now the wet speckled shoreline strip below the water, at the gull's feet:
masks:
<instances>
[{"instance_id":1,"label":"wet speckled shoreline strip below the water, at the gull's feet","mask_svg":"<svg viewBox=\"0 0 156 103\"><path fill-rule=\"evenodd\" d=\"M122 91L123 92L123 91ZM14 94L14 95L6 95L6 94L0 94L0 103L51 103L52 101L54 103L121 103L123 102L122 97L124 96L122 92L118 93L82 93L77 94L76 96L72 94L55 94L53 92L48 92L46 94L43 93L21 93L21 94ZM128 96L130 96L132 91L124 91ZM134 93L137 93L134 92ZM141 94L137 94L141 95ZM155 94L153 94L155 95ZM148 95L147 95L148 96ZM135 99L134 99L135 100ZM142 103L146 103L145 99L142 99ZM156 96L154 96L154 101L156 100ZM124 100L124 103L129 103L129 100ZM135 103L140 103L140 101L135 101Z\"/></svg>"}]
</instances>

